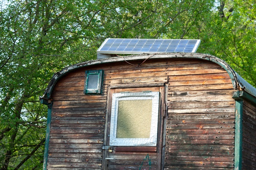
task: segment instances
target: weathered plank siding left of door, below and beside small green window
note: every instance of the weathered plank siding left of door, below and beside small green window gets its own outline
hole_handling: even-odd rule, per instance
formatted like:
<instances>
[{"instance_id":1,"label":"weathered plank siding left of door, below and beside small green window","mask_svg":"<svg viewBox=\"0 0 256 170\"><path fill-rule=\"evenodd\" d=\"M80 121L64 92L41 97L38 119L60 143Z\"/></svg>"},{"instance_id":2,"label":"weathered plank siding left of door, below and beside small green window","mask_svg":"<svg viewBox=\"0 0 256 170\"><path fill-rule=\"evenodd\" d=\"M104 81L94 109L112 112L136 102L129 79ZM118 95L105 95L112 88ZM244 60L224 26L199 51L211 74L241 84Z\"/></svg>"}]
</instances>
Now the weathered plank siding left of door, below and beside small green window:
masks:
<instances>
[{"instance_id":1,"label":"weathered plank siding left of door, below and beside small green window","mask_svg":"<svg viewBox=\"0 0 256 170\"><path fill-rule=\"evenodd\" d=\"M54 87L48 170L101 168L106 94L84 95L84 74L70 72Z\"/></svg>"}]
</instances>

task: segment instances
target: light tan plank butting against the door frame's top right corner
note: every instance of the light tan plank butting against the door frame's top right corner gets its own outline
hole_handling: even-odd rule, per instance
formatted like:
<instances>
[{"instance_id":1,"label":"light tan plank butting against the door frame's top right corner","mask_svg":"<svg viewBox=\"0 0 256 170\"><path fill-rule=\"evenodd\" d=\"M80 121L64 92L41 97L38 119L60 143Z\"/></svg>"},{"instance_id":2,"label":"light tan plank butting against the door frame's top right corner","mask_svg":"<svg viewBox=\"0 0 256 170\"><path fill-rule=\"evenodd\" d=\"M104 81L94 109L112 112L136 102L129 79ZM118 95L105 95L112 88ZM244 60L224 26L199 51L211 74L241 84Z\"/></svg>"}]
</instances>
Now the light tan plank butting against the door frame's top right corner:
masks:
<instances>
[{"instance_id":1,"label":"light tan plank butting against the door frame's top right corner","mask_svg":"<svg viewBox=\"0 0 256 170\"><path fill-rule=\"evenodd\" d=\"M206 84L194 86L169 86L168 91L195 91L195 90L231 90L234 89L232 84Z\"/></svg>"}]
</instances>

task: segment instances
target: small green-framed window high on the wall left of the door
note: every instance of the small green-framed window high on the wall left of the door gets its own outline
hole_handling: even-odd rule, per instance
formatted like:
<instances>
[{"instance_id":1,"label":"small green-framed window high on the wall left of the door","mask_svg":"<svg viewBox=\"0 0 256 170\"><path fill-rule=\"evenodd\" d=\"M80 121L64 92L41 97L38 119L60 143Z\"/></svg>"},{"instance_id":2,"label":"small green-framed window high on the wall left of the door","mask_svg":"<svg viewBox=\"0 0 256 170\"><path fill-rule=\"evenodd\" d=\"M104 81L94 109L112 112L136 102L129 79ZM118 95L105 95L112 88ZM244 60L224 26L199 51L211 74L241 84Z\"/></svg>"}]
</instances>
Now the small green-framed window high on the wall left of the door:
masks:
<instances>
[{"instance_id":1,"label":"small green-framed window high on the wall left of the door","mask_svg":"<svg viewBox=\"0 0 256 170\"><path fill-rule=\"evenodd\" d=\"M87 70L84 80L84 94L101 94L103 70Z\"/></svg>"}]
</instances>

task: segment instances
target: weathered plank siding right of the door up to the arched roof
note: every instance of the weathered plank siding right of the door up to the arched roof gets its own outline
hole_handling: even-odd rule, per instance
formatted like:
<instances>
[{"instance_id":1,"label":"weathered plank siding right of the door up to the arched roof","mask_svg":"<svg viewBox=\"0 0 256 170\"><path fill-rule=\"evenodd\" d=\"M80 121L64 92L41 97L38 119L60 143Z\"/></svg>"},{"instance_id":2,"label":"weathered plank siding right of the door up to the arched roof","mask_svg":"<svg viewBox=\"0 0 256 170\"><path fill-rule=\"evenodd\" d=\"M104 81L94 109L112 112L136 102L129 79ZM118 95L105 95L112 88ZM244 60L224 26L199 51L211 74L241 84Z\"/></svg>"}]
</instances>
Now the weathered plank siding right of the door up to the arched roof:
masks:
<instances>
[{"instance_id":1,"label":"weathered plank siding right of the door up to the arched roof","mask_svg":"<svg viewBox=\"0 0 256 170\"><path fill-rule=\"evenodd\" d=\"M168 76L165 169L234 169L231 80L213 63L195 67Z\"/></svg>"}]
</instances>

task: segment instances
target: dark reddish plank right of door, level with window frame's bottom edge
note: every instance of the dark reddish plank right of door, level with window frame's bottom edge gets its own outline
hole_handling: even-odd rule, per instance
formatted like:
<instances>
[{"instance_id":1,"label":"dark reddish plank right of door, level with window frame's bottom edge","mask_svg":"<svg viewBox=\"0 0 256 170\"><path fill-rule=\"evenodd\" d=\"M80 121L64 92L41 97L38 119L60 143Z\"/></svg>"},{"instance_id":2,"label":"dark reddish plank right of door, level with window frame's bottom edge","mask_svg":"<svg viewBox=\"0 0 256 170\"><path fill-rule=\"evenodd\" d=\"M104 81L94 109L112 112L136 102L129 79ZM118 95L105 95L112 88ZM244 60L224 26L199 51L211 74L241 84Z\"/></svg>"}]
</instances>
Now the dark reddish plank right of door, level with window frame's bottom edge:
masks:
<instances>
[{"instance_id":1,"label":"dark reddish plank right of door, level with window frame's bottom edge","mask_svg":"<svg viewBox=\"0 0 256 170\"><path fill-rule=\"evenodd\" d=\"M232 145L234 139L166 139L166 145Z\"/></svg>"}]
</instances>

